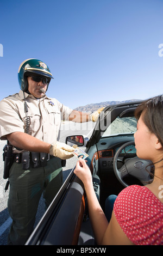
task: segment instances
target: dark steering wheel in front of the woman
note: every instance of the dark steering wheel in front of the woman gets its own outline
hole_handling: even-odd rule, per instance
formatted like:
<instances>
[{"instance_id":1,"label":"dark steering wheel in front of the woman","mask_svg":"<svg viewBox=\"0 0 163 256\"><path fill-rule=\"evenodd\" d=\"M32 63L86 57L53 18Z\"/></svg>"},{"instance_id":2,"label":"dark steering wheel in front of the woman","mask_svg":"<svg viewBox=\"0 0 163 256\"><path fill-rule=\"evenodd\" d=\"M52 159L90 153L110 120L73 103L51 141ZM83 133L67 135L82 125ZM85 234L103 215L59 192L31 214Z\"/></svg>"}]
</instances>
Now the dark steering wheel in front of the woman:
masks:
<instances>
[{"instance_id":1,"label":"dark steering wheel in front of the woman","mask_svg":"<svg viewBox=\"0 0 163 256\"><path fill-rule=\"evenodd\" d=\"M146 182L148 182L151 179L151 176L149 173L152 168L152 165L147 168L147 166L152 163L150 160L143 160L136 156L136 157L133 157L132 159L126 160L126 162L123 164L123 166L120 169L117 168L118 155L120 154L121 150L126 148L128 145L135 145L135 142L129 141L123 144L117 150L113 159L114 173L118 181L120 181L124 187L129 186L126 182L123 181L124 177L126 177L127 175L134 176L135 178L140 180L143 185L145 185Z\"/></svg>"}]
</instances>

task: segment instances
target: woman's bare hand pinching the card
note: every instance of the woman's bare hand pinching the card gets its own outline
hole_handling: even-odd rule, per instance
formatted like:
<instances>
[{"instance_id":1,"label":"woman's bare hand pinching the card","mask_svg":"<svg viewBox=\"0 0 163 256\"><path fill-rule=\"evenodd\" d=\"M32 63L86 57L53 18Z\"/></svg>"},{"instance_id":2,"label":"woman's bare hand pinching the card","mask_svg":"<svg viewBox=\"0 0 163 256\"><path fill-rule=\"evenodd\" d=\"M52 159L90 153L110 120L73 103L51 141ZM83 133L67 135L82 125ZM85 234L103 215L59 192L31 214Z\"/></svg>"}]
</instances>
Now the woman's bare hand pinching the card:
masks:
<instances>
[{"instance_id":1,"label":"woman's bare hand pinching the card","mask_svg":"<svg viewBox=\"0 0 163 256\"><path fill-rule=\"evenodd\" d=\"M92 174L87 166L85 160L83 160L81 157L79 158L79 161L77 162L76 168L74 169L74 174L77 175L77 177L82 180L84 186L86 184L92 183Z\"/></svg>"}]
</instances>

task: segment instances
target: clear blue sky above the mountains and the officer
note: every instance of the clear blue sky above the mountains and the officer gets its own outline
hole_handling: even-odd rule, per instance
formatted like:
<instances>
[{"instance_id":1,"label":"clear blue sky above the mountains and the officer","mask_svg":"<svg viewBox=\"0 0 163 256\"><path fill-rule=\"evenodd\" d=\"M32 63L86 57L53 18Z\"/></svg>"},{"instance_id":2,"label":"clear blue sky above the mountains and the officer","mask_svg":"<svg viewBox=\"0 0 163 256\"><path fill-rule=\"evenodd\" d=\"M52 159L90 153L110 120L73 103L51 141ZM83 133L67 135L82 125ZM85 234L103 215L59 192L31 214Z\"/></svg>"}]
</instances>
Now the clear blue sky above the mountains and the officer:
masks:
<instances>
[{"instance_id":1,"label":"clear blue sky above the mountains and the officer","mask_svg":"<svg viewBox=\"0 0 163 256\"><path fill-rule=\"evenodd\" d=\"M162 94L162 13L162 0L0 0L0 100L20 90L28 58L49 66L47 95L71 108Z\"/></svg>"}]
</instances>

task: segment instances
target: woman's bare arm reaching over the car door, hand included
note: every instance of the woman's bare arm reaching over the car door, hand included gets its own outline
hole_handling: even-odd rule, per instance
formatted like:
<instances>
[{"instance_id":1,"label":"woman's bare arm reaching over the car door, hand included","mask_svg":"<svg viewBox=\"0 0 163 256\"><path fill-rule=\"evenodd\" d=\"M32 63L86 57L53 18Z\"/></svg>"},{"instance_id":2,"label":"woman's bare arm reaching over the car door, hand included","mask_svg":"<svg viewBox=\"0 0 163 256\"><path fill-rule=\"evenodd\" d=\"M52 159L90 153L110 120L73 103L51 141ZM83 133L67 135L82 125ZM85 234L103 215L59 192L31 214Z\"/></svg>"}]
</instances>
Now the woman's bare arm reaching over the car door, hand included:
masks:
<instances>
[{"instance_id":1,"label":"woman's bare arm reaching over the car door, hand included","mask_svg":"<svg viewBox=\"0 0 163 256\"><path fill-rule=\"evenodd\" d=\"M132 245L118 224L114 213L112 213L111 220L108 223L96 197L92 184L92 175L85 160L79 159L74 173L84 184L89 215L98 245Z\"/></svg>"}]
</instances>

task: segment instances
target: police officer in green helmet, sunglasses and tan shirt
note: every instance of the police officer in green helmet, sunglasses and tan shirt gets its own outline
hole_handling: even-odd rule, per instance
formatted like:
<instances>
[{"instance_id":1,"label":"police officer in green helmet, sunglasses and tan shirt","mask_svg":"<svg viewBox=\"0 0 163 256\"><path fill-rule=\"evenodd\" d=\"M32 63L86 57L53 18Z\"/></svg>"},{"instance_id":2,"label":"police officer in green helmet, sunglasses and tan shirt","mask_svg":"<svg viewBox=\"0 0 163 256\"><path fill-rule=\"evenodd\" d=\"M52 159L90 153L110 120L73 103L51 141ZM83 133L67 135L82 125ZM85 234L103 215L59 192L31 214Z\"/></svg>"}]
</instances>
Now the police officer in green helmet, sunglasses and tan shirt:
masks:
<instances>
[{"instance_id":1,"label":"police officer in green helmet, sunglasses and tan shirt","mask_svg":"<svg viewBox=\"0 0 163 256\"><path fill-rule=\"evenodd\" d=\"M12 145L8 199L13 220L11 245L23 245L32 232L42 192L48 207L62 185L61 159L72 157L74 148L58 141L61 118L84 122L96 121L99 115L73 111L47 97L52 78L41 60L24 60L18 69L20 92L0 102L0 138Z\"/></svg>"}]
</instances>

